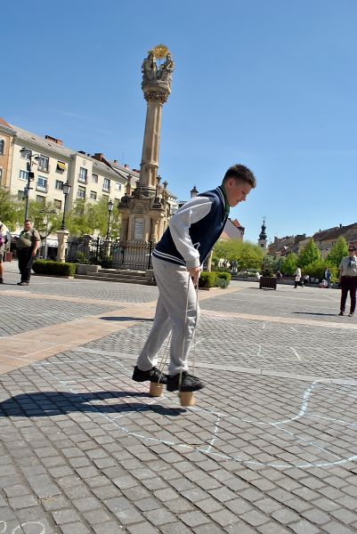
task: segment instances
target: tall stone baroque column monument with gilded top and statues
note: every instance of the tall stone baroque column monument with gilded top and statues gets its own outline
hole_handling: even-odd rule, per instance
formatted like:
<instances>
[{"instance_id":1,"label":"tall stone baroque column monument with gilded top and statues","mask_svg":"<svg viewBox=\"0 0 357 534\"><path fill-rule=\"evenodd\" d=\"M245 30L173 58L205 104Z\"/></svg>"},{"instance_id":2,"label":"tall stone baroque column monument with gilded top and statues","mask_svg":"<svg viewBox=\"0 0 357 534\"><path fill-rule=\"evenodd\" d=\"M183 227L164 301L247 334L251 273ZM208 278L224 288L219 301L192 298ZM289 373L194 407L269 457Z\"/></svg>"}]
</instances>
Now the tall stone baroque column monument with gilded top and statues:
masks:
<instances>
[{"instance_id":1,"label":"tall stone baroque column monument with gilded top and statues","mask_svg":"<svg viewBox=\"0 0 357 534\"><path fill-rule=\"evenodd\" d=\"M157 61L163 61L158 64ZM142 92L147 101L145 133L139 181L132 191L130 180L119 209L122 216L122 243L126 241L157 242L166 229L170 217L166 182L160 185L158 176L158 148L162 106L171 93L174 61L164 44L149 51L142 62Z\"/></svg>"}]
</instances>

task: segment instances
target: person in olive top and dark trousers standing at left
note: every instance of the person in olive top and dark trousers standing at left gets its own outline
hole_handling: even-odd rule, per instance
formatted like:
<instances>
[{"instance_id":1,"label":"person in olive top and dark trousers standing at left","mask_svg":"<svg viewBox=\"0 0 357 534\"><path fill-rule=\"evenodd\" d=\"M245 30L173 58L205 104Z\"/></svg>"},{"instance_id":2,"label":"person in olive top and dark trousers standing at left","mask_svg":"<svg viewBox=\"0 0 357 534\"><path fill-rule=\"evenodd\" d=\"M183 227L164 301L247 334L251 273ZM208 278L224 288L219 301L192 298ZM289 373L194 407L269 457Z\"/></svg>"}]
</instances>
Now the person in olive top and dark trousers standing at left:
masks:
<instances>
[{"instance_id":1,"label":"person in olive top and dark trousers standing at left","mask_svg":"<svg viewBox=\"0 0 357 534\"><path fill-rule=\"evenodd\" d=\"M28 286L31 276L32 263L37 255L40 246L40 236L36 228L32 227L31 221L26 219L23 230L20 231L19 239L16 241L19 258L19 270L21 281L18 286Z\"/></svg>"}]
</instances>

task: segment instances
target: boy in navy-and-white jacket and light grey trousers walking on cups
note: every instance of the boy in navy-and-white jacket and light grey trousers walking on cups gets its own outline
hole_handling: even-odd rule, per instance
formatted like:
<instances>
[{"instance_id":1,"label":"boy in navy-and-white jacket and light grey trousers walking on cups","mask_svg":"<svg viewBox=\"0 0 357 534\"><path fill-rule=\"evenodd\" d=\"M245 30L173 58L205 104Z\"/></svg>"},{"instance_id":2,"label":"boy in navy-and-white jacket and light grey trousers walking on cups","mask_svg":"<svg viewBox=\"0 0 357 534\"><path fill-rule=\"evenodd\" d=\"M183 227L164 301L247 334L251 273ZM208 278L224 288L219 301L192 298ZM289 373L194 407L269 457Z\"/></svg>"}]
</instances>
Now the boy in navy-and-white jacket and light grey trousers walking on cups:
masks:
<instances>
[{"instance_id":1,"label":"boy in navy-and-white jacket and light grey trousers walking on cups","mask_svg":"<svg viewBox=\"0 0 357 534\"><path fill-rule=\"evenodd\" d=\"M204 387L188 372L188 354L199 320L195 286L201 265L223 232L230 207L245 201L256 187L254 174L231 166L215 190L191 198L172 217L152 253L158 303L150 335L134 367L136 382L160 382L167 390L193 392ZM169 375L159 372L158 351L172 332Z\"/></svg>"}]
</instances>

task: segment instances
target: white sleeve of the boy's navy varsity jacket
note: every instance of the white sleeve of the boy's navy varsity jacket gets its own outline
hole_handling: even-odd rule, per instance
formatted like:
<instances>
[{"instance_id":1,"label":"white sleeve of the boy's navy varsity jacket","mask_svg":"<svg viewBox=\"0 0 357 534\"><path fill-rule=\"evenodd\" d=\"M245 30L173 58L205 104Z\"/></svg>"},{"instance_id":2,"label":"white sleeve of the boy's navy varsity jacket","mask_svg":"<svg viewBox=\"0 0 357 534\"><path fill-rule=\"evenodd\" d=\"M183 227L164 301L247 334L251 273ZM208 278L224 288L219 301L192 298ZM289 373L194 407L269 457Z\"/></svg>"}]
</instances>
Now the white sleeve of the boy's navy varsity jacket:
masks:
<instances>
[{"instance_id":1,"label":"white sleeve of the boy's navy varsity jacket","mask_svg":"<svg viewBox=\"0 0 357 534\"><path fill-rule=\"evenodd\" d=\"M199 267L199 251L195 248L195 245L198 244L192 243L189 233L191 224L198 223L206 217L211 207L212 200L210 198L192 198L174 214L169 223L174 245L183 256L188 271Z\"/></svg>"}]
</instances>

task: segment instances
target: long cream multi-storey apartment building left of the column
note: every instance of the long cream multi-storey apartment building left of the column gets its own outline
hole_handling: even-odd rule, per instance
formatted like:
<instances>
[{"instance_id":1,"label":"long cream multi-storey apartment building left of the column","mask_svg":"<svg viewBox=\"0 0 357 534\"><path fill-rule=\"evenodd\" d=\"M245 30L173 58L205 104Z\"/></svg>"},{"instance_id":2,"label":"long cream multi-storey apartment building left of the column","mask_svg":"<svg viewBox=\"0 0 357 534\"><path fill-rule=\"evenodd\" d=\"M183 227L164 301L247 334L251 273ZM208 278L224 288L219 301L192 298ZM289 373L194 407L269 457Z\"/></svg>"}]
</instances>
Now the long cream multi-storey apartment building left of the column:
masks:
<instances>
[{"instance_id":1,"label":"long cream multi-storey apartment building left of the column","mask_svg":"<svg viewBox=\"0 0 357 534\"><path fill-rule=\"evenodd\" d=\"M32 152L31 171L34 173L28 191L30 200L53 201L54 206L63 211L63 183L69 182L71 190L66 211L70 211L78 198L95 201L103 197L118 206L125 192L126 174L118 174L85 151L68 149L61 140L50 135L41 137L19 126L11 127L15 134L12 137L12 173L7 187L19 199L24 197L28 186L29 157L28 152L22 150L26 148Z\"/></svg>"}]
</instances>

